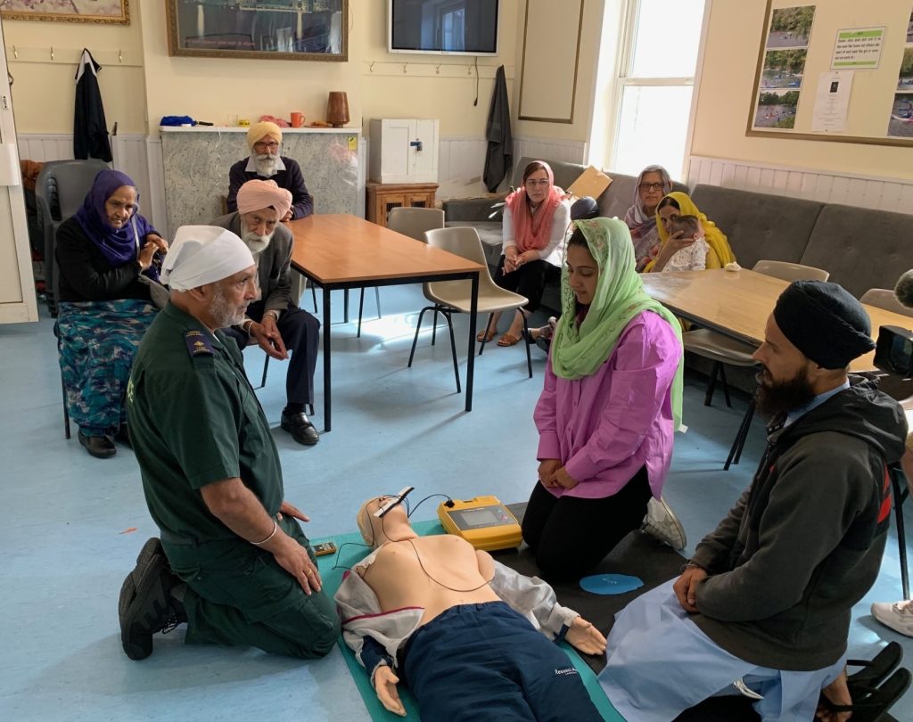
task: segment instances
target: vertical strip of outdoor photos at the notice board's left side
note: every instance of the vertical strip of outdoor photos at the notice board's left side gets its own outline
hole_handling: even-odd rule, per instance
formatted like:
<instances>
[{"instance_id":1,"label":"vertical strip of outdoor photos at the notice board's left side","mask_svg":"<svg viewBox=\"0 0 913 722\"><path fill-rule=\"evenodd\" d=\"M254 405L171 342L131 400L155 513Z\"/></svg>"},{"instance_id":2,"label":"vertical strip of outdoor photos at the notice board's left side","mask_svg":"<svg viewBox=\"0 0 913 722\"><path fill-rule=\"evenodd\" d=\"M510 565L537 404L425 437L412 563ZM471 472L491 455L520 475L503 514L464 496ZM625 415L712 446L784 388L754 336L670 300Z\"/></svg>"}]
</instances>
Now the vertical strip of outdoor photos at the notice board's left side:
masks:
<instances>
[{"instance_id":1,"label":"vertical strip of outdoor photos at the notice board's left side","mask_svg":"<svg viewBox=\"0 0 913 722\"><path fill-rule=\"evenodd\" d=\"M771 13L752 128L789 131L795 126L813 20L814 5L780 7Z\"/></svg>"}]
</instances>

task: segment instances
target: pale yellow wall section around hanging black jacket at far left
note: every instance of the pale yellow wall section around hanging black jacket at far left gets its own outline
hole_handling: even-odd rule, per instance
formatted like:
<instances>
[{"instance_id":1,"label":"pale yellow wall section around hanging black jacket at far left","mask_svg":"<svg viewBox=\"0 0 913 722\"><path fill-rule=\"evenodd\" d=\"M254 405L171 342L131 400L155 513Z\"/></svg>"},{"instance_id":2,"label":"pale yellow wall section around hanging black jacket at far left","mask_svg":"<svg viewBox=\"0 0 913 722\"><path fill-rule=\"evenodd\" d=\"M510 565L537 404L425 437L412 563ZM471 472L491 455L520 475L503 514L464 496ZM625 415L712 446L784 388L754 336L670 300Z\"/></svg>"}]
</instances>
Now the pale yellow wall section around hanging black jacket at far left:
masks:
<instances>
[{"instance_id":1,"label":"pale yellow wall section around hanging black jacket at far left","mask_svg":"<svg viewBox=\"0 0 913 722\"><path fill-rule=\"evenodd\" d=\"M121 132L145 130L142 43L135 21L114 26L4 20L3 31L9 71L16 80L12 92L17 132L73 132L74 76L83 47L102 66L99 85L109 129L117 121ZM131 65L119 64L119 54Z\"/></svg>"}]
</instances>

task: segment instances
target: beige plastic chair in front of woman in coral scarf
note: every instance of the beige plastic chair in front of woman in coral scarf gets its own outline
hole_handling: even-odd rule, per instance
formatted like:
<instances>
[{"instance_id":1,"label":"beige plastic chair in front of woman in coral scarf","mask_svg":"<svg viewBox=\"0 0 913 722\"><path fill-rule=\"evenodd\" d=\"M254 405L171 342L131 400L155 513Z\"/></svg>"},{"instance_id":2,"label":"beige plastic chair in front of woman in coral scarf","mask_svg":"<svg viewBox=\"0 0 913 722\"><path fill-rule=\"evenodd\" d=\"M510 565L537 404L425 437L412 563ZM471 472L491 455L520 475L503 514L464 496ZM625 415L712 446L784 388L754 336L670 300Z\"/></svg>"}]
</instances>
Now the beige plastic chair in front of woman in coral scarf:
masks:
<instances>
[{"instance_id":1,"label":"beige plastic chair in front of woman in coral scarf","mask_svg":"<svg viewBox=\"0 0 913 722\"><path fill-rule=\"evenodd\" d=\"M452 253L455 256L462 256L467 260L475 261L482 267L478 275L478 313L488 313L488 324L486 331L491 326L491 321L495 311L506 311L519 309L526 306L528 299L520 296L519 293L500 288L491 278L488 272L488 264L485 260L485 251L482 250L482 241L478 233L472 226L457 226L455 228L436 228L435 230L425 233L428 246L440 248ZM456 392L462 391L459 382L459 369L456 364L456 341L454 340L454 326L451 315L454 313L469 313L472 310L472 282L471 281L433 281L425 283L422 291L433 305L425 306L418 315L418 324L415 326L415 338L412 340L412 351L409 353L408 366L412 367L412 360L415 357L415 344L418 342L418 332L422 330L422 319L425 317L425 311L434 311L440 313L447 322L447 328L450 330L450 351L454 360L454 375L456 376ZM529 335L526 315L523 316L523 335ZM478 355L481 356L485 351L488 333L483 336ZM432 345L434 345L434 335L432 335ZM530 355L530 344L526 346L526 364L532 378L532 357Z\"/></svg>"}]
</instances>

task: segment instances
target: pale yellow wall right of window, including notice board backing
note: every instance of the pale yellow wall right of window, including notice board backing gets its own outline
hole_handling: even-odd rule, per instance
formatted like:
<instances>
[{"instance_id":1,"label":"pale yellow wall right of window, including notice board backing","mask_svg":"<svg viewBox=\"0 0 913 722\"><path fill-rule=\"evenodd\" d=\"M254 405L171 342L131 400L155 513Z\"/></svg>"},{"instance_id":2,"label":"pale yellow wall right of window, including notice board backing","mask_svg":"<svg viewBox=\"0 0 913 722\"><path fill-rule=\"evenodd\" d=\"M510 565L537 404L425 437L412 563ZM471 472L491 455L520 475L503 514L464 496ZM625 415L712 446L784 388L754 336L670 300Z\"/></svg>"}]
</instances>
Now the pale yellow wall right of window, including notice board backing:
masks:
<instances>
[{"instance_id":1,"label":"pale yellow wall right of window, including notice board backing","mask_svg":"<svg viewBox=\"0 0 913 722\"><path fill-rule=\"evenodd\" d=\"M800 4L778 2L776 6L784 5ZM713 0L691 154L835 173L913 177L913 147L745 135L764 31L765 7L764 0ZM897 0L869 3L827 0L826 4L818 4L799 101L797 128L801 130L805 123L809 127L811 125L818 73L829 66L836 30L839 27L887 25L882 69L857 70L858 79L850 99L851 122L856 127L867 127L873 133L879 130L884 133L890 110L885 93L876 92L873 96L876 84L868 82L868 78L864 81L863 76L879 73L880 78L887 78L888 83L890 78L897 82L900 55L907 33L904 17L908 19L909 12L910 4Z\"/></svg>"}]
</instances>

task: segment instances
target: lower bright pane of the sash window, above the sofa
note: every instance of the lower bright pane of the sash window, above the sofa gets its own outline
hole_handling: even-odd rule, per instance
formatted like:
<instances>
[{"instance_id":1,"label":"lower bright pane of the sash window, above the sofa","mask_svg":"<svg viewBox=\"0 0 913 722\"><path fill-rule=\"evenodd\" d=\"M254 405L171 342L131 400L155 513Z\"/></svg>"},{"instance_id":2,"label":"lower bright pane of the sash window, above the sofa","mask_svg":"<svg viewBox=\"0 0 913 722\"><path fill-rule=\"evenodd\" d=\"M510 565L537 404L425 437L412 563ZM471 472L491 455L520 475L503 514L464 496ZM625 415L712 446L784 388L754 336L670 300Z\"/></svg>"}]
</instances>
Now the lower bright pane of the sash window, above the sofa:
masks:
<instances>
[{"instance_id":1,"label":"lower bright pane of the sash window, above the sofa","mask_svg":"<svg viewBox=\"0 0 913 722\"><path fill-rule=\"evenodd\" d=\"M622 92L613 170L636 175L658 163L682 180L692 86L626 86Z\"/></svg>"}]
</instances>

